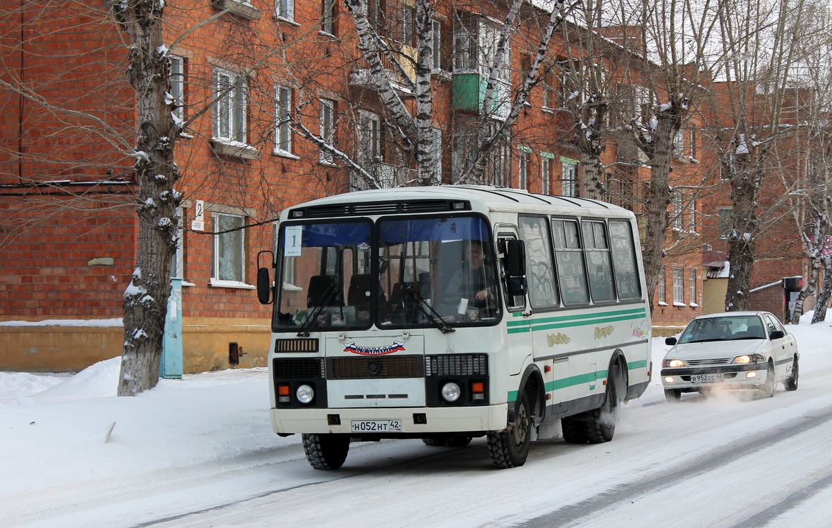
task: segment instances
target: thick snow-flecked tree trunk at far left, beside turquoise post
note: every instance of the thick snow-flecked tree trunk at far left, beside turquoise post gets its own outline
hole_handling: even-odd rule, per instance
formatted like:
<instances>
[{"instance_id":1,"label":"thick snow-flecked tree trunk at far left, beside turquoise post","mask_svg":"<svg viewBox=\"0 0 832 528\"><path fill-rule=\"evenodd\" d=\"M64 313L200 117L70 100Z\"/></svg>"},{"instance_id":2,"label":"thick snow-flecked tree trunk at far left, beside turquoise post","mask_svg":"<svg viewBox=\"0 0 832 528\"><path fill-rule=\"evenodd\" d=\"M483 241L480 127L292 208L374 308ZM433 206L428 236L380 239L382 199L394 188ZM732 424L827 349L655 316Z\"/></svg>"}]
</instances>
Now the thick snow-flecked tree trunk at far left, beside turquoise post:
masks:
<instances>
[{"instance_id":1,"label":"thick snow-flecked tree trunk at far left, beside turquoise post","mask_svg":"<svg viewBox=\"0 0 832 528\"><path fill-rule=\"evenodd\" d=\"M136 212L139 244L136 269L124 297L124 352L119 396L135 396L159 381L167 299L171 294L171 260L176 252L173 188L179 172L173 144L179 135L171 110L170 60L162 41L164 2L114 2L112 10L130 37L128 76L136 91Z\"/></svg>"}]
</instances>

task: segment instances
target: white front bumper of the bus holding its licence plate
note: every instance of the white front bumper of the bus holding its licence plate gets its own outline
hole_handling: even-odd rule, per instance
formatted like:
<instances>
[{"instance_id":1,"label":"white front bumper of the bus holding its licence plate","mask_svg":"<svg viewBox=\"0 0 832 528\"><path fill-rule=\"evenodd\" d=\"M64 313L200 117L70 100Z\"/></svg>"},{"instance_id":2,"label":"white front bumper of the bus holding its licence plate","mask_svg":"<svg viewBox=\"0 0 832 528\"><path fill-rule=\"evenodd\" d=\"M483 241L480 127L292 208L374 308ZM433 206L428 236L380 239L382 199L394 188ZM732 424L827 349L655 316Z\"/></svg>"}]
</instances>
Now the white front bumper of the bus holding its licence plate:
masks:
<instances>
[{"instance_id":1,"label":"white front bumper of the bus holding its licence plate","mask_svg":"<svg viewBox=\"0 0 832 528\"><path fill-rule=\"evenodd\" d=\"M435 432L499 431L507 426L508 403L483 407L373 407L356 409L271 409L271 426L276 433L349 433L361 431L380 437L418 437ZM400 427L400 431L369 431L371 422L379 427Z\"/></svg>"}]
</instances>

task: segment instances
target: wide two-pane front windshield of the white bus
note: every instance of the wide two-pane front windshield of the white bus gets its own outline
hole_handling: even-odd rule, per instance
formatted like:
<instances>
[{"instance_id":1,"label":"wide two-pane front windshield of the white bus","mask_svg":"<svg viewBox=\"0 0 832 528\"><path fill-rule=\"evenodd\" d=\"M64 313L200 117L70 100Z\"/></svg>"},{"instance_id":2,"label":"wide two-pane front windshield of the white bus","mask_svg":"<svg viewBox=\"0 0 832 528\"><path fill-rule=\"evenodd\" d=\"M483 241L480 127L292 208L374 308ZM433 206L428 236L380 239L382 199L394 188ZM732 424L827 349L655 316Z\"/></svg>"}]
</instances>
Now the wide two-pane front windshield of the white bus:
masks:
<instances>
[{"instance_id":1,"label":"wide two-pane front windshield of the white bus","mask_svg":"<svg viewBox=\"0 0 832 528\"><path fill-rule=\"evenodd\" d=\"M498 274L479 216L281 226L275 331L496 323Z\"/></svg>"}]
</instances>

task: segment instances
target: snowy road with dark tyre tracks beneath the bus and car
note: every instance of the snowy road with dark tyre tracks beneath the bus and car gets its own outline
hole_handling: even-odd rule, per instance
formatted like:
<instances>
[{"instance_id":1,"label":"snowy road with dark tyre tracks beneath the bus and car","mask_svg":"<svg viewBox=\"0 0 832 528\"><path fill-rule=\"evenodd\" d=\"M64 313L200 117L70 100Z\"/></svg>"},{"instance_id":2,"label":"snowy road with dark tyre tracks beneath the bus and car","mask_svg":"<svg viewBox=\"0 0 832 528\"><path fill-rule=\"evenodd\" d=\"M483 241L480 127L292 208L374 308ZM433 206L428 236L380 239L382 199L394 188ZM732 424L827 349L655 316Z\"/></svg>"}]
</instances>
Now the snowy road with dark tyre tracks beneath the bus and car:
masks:
<instances>
[{"instance_id":1,"label":"snowy road with dark tyre tracks beneath the bus and car","mask_svg":"<svg viewBox=\"0 0 832 528\"><path fill-rule=\"evenodd\" d=\"M6 496L0 524L830 526L832 353L821 345L804 347L795 392L668 403L654 382L624 407L612 442L536 442L511 470L492 466L483 438L461 448L356 443L339 471L313 470L298 440L284 440L223 461Z\"/></svg>"}]
</instances>

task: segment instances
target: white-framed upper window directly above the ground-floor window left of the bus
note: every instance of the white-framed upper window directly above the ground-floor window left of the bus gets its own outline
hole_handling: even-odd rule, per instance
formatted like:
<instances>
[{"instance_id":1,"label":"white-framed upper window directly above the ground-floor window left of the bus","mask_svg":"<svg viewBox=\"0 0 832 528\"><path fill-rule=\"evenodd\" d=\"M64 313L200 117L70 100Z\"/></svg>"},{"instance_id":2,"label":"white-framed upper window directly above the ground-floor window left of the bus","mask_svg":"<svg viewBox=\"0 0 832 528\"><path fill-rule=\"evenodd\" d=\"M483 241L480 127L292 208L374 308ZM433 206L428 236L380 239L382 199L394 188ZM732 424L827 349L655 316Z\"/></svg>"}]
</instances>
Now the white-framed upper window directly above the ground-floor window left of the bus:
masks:
<instances>
[{"instance_id":1,"label":"white-framed upper window directly above the ground-floor window left of the bus","mask_svg":"<svg viewBox=\"0 0 832 528\"><path fill-rule=\"evenodd\" d=\"M214 71L214 139L245 145L245 78L237 73Z\"/></svg>"}]
</instances>

